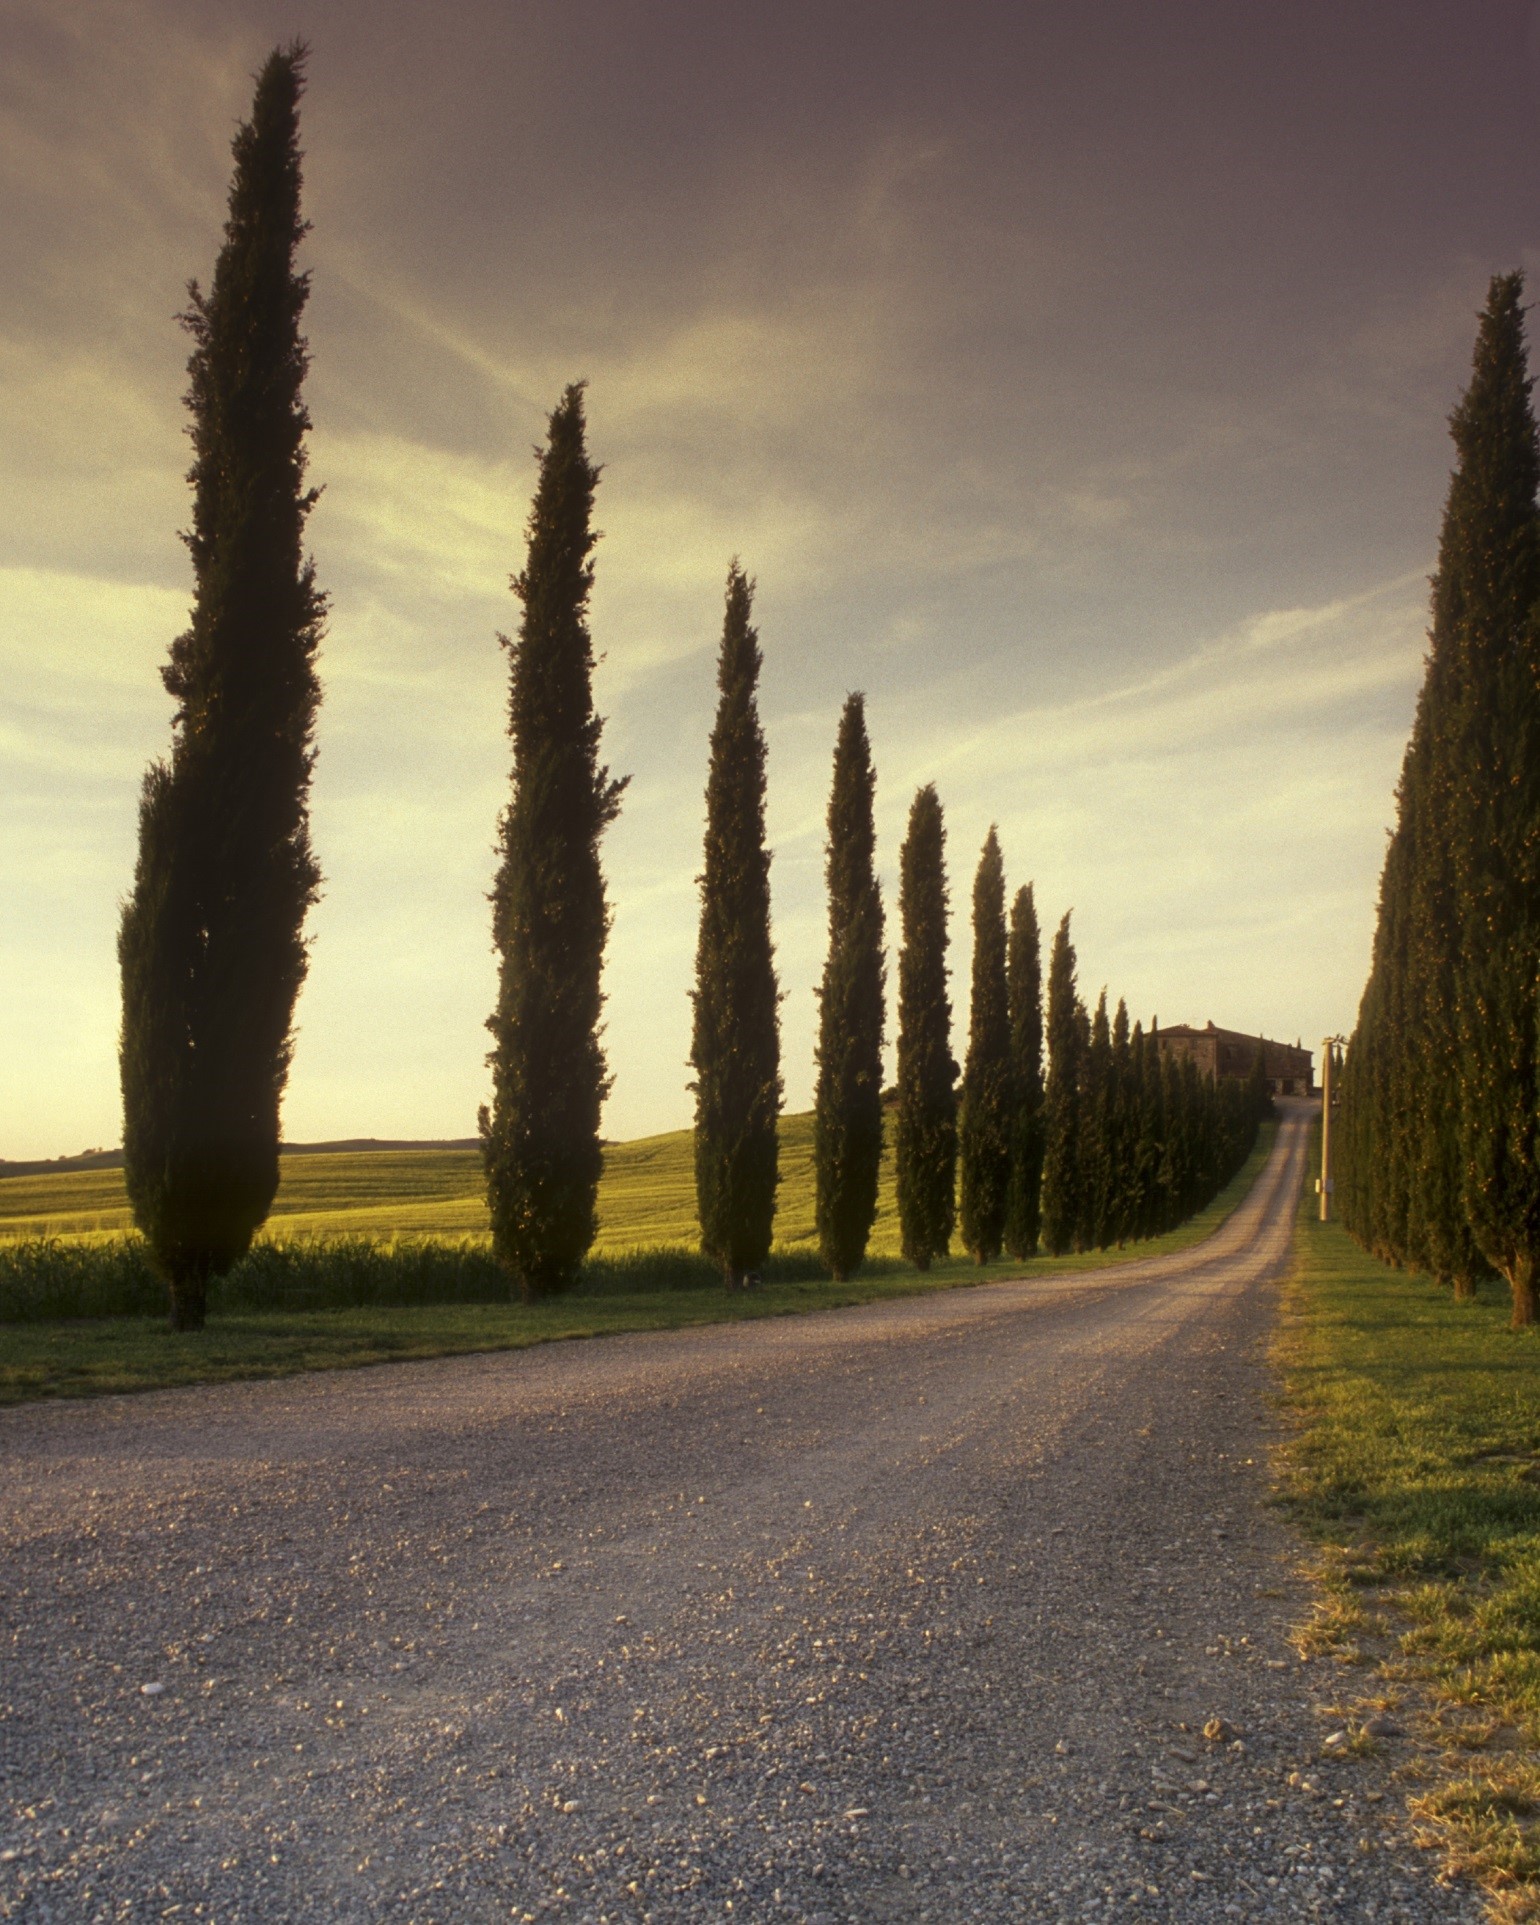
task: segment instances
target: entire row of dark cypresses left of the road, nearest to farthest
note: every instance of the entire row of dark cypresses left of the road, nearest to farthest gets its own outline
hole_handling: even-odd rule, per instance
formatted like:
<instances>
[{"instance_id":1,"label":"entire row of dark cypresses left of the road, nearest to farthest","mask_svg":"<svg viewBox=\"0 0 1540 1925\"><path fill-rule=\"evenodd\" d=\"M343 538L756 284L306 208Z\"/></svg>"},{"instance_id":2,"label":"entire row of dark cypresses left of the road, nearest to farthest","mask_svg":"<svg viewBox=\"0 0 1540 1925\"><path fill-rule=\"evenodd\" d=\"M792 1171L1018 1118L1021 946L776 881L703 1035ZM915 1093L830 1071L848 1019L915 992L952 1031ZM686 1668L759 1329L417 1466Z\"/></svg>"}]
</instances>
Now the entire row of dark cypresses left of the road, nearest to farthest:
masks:
<instances>
[{"instance_id":1,"label":"entire row of dark cypresses left of the road, nearest to farthest","mask_svg":"<svg viewBox=\"0 0 1540 1925\"><path fill-rule=\"evenodd\" d=\"M225 243L192 289L192 622L164 670L177 697L169 762L141 803L123 911L121 1080L127 1190L173 1322L248 1251L277 1190L279 1105L320 887L308 837L316 647L325 614L302 551L306 487L298 100L304 48L271 54L235 137ZM493 1247L526 1297L566 1290L597 1234L601 1043L610 909L601 841L624 782L601 760L593 705L593 500L581 383L551 414L512 589L512 778L499 820L487 1020L493 1099L481 1145ZM1532 493L1532 489L1530 489ZM766 743L755 585L728 570L710 735L691 1068L701 1249L730 1284L770 1251L782 1107L770 928ZM828 955L818 989L816 1224L851 1276L878 1211L884 1149L884 905L866 710L839 718L828 807ZM936 787L914 795L899 857L893 1147L905 1253L989 1263L1151 1236L1199 1209L1255 1138L1263 1082L1199 1078L1130 1032L1122 1003L1088 1014L1068 916L1043 1022L1032 887L1007 920L991 828L972 887L968 1047L951 1055L949 887ZM1043 1040L1047 1036L1047 1061ZM1261 1051L1257 1059L1261 1078ZM959 1080L961 1078L961 1080Z\"/></svg>"}]
</instances>

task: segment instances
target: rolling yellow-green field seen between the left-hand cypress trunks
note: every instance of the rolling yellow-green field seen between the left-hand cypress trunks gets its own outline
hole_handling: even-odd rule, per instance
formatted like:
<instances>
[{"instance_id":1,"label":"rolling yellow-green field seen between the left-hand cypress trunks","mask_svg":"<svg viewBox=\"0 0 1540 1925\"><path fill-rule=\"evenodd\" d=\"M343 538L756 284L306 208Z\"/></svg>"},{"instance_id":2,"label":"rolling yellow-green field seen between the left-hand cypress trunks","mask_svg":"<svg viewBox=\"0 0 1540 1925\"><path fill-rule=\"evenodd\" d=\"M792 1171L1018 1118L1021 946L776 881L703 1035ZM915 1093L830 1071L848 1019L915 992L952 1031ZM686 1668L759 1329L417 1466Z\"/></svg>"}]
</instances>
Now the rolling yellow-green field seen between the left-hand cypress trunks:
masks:
<instances>
[{"instance_id":1,"label":"rolling yellow-green field seen between the left-hand cypress trunks","mask_svg":"<svg viewBox=\"0 0 1540 1925\"><path fill-rule=\"evenodd\" d=\"M366 1149L285 1157L271 1242L397 1238L477 1242L491 1236L475 1149ZM0 1240L119 1238L133 1228L121 1170L0 1178ZM812 1245L812 1115L782 1116L776 1242ZM693 1244L695 1165L689 1130L610 1143L599 1186L597 1255ZM884 1163L872 1255L897 1257L891 1151Z\"/></svg>"}]
</instances>

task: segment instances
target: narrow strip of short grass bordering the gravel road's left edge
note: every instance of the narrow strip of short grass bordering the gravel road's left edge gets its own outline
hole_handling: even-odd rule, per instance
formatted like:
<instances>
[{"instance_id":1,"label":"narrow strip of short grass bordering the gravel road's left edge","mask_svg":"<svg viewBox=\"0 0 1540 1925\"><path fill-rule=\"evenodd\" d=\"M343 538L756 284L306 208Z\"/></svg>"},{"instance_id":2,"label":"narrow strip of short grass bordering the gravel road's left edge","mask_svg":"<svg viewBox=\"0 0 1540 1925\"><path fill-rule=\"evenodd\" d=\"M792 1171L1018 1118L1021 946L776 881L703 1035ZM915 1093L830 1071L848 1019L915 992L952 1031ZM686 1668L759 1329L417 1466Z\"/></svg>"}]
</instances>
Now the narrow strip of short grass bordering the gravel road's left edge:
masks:
<instances>
[{"instance_id":1,"label":"narrow strip of short grass bordering the gravel road's left edge","mask_svg":"<svg viewBox=\"0 0 1540 1925\"><path fill-rule=\"evenodd\" d=\"M878 1263L849 1284L774 1274L764 1288L730 1296L691 1282L670 1286L653 1274L647 1288L624 1288L624 1263L597 1274L554 1303L441 1301L429 1305L366 1303L329 1309L216 1311L198 1334L177 1334L158 1317L31 1321L0 1324L0 1403L37 1398L79 1398L173 1384L287 1376L296 1371L350 1369L404 1357L443 1357L479 1349L522 1349L556 1338L606 1336L622 1330L676 1330L749 1317L783 1317L878 1297L918 1296L999 1282L1007 1276L1084 1272L1186 1249L1217 1230L1242 1201L1272 1147L1276 1126L1265 1124L1245 1167L1215 1201L1167 1236L1120 1251L1084 1257L1038 1257L1030 1265L1001 1261L978 1269L962 1257L920 1276L907 1265ZM649 1269L656 1269L656 1257Z\"/></svg>"}]
</instances>

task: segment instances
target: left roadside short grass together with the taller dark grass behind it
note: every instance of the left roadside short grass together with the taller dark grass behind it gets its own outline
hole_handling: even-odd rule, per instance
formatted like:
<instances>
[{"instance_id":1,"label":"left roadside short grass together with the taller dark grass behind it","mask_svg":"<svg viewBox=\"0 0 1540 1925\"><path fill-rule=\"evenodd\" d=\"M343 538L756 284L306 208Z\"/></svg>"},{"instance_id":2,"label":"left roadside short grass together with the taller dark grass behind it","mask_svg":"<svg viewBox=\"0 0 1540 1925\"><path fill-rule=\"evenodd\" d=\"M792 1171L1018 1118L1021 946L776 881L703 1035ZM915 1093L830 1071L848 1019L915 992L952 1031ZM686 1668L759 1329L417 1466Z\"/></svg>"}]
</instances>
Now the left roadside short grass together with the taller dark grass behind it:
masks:
<instances>
[{"instance_id":1,"label":"left roadside short grass together with the taller dark grass behind it","mask_svg":"<svg viewBox=\"0 0 1540 1925\"><path fill-rule=\"evenodd\" d=\"M1276 1124L1263 1124L1251 1157L1215 1201L1180 1228L1145 1244L1082 1257L1038 1257L1026 1265L1001 1261L984 1269L953 1257L934 1265L924 1276L909 1265L880 1257L847 1284L820 1276L814 1257L791 1249L772 1257L760 1290L733 1296L722 1290L703 1259L689 1249L645 1249L599 1259L570 1296L524 1305L491 1299L504 1286L479 1245L370 1245L362 1240L346 1240L343 1245L262 1245L252 1257L264 1269L254 1272L250 1288L237 1278L223 1299L216 1297L206 1330L179 1334L167 1330L160 1317L100 1315L104 1299L92 1297L92 1278L112 1255L100 1244L0 1247L0 1270L6 1263L15 1269L8 1286L13 1315L25 1319L0 1322L0 1403L289 1376L296 1371L337 1371L479 1349L524 1349L560 1338L678 1330L837 1309L1013 1276L1101 1270L1188 1249L1211 1236L1255 1182L1274 1134ZM40 1253L33 1282L17 1267L29 1247ZM110 1270L117 1278L112 1288L137 1290L139 1270L123 1257L131 1245L119 1244L114 1249L117 1257L112 1261L123 1269L121 1274ZM0 1294L4 1286L0 1276ZM256 1294L273 1288L287 1292L287 1301L258 1307ZM23 1290L31 1292L25 1301ZM410 1290L431 1290L435 1296L431 1301L400 1301ZM71 1307L73 1315L40 1315L58 1305ZM144 1309L148 1307L146 1303Z\"/></svg>"}]
</instances>

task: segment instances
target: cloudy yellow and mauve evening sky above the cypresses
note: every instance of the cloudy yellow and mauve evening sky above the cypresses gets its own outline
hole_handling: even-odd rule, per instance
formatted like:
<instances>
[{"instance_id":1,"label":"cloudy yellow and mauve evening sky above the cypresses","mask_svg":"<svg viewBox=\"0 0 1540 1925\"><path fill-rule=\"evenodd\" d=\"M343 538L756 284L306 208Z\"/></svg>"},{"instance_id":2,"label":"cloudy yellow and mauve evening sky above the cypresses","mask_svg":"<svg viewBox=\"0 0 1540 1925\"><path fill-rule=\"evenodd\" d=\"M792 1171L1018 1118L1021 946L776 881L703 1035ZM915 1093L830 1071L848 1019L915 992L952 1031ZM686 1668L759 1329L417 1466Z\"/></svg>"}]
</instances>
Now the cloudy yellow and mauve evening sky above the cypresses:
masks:
<instances>
[{"instance_id":1,"label":"cloudy yellow and mauve evening sky above the cypresses","mask_svg":"<svg viewBox=\"0 0 1540 1925\"><path fill-rule=\"evenodd\" d=\"M293 1142L468 1136L535 443L587 379L604 1130L689 1120L714 651L757 578L789 1109L862 689L889 934L947 816L1145 1022L1353 1024L1448 412L1540 250L1528 0L0 0L0 1157L121 1140L116 926L185 626L175 316L310 42L325 893Z\"/></svg>"}]
</instances>

